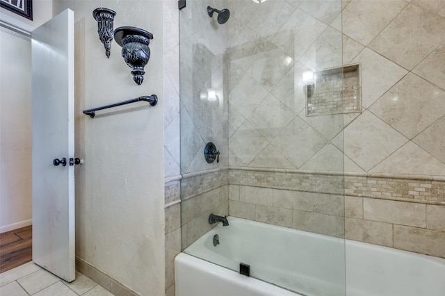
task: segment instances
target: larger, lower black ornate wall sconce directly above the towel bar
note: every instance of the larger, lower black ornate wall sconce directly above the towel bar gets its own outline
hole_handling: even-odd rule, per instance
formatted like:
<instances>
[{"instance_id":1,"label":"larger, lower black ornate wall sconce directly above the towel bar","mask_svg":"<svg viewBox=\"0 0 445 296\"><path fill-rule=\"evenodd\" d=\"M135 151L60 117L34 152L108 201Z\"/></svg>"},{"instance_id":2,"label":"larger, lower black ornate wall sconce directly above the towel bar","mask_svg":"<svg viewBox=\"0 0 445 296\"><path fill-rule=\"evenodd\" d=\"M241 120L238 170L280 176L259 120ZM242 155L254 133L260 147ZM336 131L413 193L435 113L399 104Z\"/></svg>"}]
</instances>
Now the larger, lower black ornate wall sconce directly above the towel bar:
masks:
<instances>
[{"instance_id":1,"label":"larger, lower black ornate wall sconce directly above the towel bar","mask_svg":"<svg viewBox=\"0 0 445 296\"><path fill-rule=\"evenodd\" d=\"M153 34L142 28L121 26L115 29L114 38L122 47L125 63L133 69L131 74L133 74L134 82L140 85L144 80L144 67L150 58L148 45L153 39Z\"/></svg>"}]
</instances>

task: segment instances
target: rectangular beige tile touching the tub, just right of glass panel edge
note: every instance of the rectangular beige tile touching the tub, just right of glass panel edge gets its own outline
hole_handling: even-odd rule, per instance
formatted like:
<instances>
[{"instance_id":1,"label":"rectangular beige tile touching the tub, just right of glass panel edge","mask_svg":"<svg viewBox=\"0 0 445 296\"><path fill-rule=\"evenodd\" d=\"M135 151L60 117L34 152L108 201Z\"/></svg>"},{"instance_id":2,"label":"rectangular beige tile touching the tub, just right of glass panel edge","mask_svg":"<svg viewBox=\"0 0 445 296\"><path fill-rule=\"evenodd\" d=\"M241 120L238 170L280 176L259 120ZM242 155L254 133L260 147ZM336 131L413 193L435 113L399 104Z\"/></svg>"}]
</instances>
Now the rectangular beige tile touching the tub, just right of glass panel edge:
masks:
<instances>
[{"instance_id":1,"label":"rectangular beige tile touching the tub, just right of glass panel edge","mask_svg":"<svg viewBox=\"0 0 445 296\"><path fill-rule=\"evenodd\" d=\"M346 218L345 238L392 247L392 224Z\"/></svg>"}]
</instances>

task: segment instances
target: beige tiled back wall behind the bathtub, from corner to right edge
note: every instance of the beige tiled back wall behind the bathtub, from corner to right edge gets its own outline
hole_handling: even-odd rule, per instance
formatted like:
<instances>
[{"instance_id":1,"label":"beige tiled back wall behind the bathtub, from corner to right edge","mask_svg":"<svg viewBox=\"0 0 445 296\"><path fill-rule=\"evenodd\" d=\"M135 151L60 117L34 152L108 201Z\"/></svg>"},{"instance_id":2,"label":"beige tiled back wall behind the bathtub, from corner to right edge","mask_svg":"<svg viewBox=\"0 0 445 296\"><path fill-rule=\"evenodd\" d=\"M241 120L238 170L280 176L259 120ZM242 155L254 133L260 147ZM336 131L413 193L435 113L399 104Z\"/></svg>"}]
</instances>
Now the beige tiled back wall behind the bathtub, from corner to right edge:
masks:
<instances>
[{"instance_id":1,"label":"beige tiled back wall behind the bathtub, from corner to right edge","mask_svg":"<svg viewBox=\"0 0 445 296\"><path fill-rule=\"evenodd\" d=\"M289 184L301 171L335 176L344 151L346 238L445 256L443 3L343 1L342 17L334 1L291 1L285 11L250 6L252 18L233 24L241 37L229 51L229 182L241 185L239 199L230 186L230 214L305 229L301 215L321 213L311 206L300 213L295 201L300 191L320 189L314 180L312 189ZM257 28L256 19L268 28ZM249 38L254 46L236 47ZM343 65L362 68L362 113L345 114L341 125L332 116L306 117L302 72L341 66L332 57L341 46ZM268 67L282 60L291 60L287 69ZM255 167L289 171L277 179ZM292 181L277 186L288 174ZM275 202L282 189L291 204Z\"/></svg>"}]
</instances>

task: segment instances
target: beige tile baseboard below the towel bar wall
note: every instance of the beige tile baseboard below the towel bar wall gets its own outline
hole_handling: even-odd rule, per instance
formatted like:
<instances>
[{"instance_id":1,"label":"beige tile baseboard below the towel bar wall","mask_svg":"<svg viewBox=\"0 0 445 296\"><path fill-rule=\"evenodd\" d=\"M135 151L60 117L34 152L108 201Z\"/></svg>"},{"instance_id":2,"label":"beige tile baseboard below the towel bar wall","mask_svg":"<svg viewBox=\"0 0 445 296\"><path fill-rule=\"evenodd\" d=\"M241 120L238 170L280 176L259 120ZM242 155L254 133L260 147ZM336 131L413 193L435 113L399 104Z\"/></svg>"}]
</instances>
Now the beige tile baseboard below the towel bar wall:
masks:
<instances>
[{"instance_id":1,"label":"beige tile baseboard below the towel bar wall","mask_svg":"<svg viewBox=\"0 0 445 296\"><path fill-rule=\"evenodd\" d=\"M113 279L109 274L106 274L94 266L83 261L81 258L76 256L76 270L81 274L85 274L87 277L99 283L100 286L113 293L115 296L141 296L131 288L125 286L123 283L117 279Z\"/></svg>"}]
</instances>

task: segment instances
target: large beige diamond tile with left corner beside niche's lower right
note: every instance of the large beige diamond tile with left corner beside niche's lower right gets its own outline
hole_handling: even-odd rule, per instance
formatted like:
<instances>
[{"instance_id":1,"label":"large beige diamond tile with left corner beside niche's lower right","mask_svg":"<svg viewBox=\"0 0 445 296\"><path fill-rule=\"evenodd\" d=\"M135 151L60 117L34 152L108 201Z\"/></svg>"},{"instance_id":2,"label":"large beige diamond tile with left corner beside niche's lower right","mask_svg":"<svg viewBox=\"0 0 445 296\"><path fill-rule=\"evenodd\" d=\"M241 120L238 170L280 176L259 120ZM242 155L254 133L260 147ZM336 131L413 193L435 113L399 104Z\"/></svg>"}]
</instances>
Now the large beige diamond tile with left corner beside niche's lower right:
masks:
<instances>
[{"instance_id":1,"label":"large beige diamond tile with left corner beside niche's lower right","mask_svg":"<svg viewBox=\"0 0 445 296\"><path fill-rule=\"evenodd\" d=\"M428 98L428 104L421 98ZM419 76L408 74L369 110L412 139L445 114L445 91Z\"/></svg>"}]
</instances>

